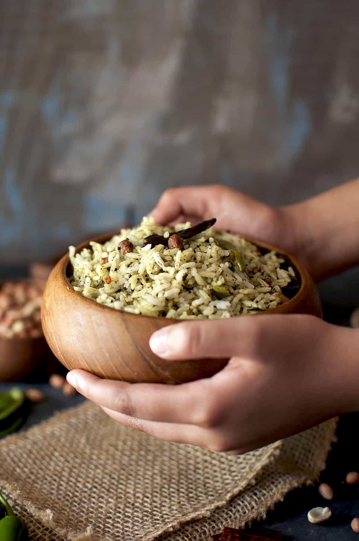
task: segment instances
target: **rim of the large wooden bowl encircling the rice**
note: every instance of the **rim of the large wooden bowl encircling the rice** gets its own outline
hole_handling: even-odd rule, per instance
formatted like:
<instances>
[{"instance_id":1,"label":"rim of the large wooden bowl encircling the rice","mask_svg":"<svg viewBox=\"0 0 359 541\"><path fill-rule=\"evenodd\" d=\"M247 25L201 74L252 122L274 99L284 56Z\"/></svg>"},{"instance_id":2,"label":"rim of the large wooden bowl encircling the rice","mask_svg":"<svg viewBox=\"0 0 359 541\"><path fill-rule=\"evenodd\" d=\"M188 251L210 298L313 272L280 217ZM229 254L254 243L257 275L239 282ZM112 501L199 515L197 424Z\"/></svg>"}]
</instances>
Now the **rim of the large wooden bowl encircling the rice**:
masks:
<instances>
[{"instance_id":1,"label":"rim of the large wooden bowl encircling the rice","mask_svg":"<svg viewBox=\"0 0 359 541\"><path fill-rule=\"evenodd\" d=\"M81 251L84 248L88 248L90 242L98 242L98 243L102 244L103 242L106 242L107 240L111 239L111 237L116 235L116 234L118 234L118 231L113 232L113 233L108 233L106 235L98 236L95 239L90 239L90 240L84 241L84 242L82 242L81 244L79 244L79 245L77 245L75 247L75 254L77 254L79 251ZM308 281L308 277L309 277L309 279L311 279L310 275L305 270L305 268L301 265L301 263L295 258L294 255L289 254L288 252L286 252L282 248L278 248L278 247L276 247L274 245L271 245L269 242L265 242L265 241L255 239L254 237L251 237L249 235L242 235L241 233L235 233L235 234L240 236L241 238L243 238L245 240L248 240L249 242L252 242L253 244L258 246L259 248L265 248L268 251L275 250L275 252L277 252L278 254L285 255L286 258L288 258L290 260L290 262L292 263L292 266L295 267L297 273L300 275L300 278L301 278L300 288L298 289L297 293L291 299L289 299L289 301L284 302L282 305L278 305L275 308L270 308L268 310L263 310L262 312L256 312L254 314L248 314L248 315L287 314L288 309L290 308L290 306L297 305L300 301L302 301L305 298L305 289L306 289L305 282ZM90 305L97 306L98 309L110 310L112 313L115 313L115 314L117 313L118 317L121 317L124 314L126 316L133 316L133 317L136 317L136 318L138 318L138 316L142 316L143 318L148 318L150 320L166 321L166 322L170 322L171 324L172 323L178 323L180 321L195 321L193 319L188 319L187 320L187 319L179 319L179 318L165 318L164 316L154 316L154 315L146 315L146 314L134 314L132 312L126 312L124 310L116 310L115 308L111 308L110 306L105 306L103 304L95 302L94 300L89 299L88 297L85 297L84 295L82 295L81 292L75 291L75 289L70 285L70 282L68 281L67 275L66 275L66 271L67 271L69 263L70 263L70 258L69 258L69 254L67 253L67 254L63 255L63 257L58 261L57 265L54 267L54 268L58 268L58 270L59 270L58 274L59 274L59 279L61 280L61 282L58 285L61 286L61 287L67 287L67 289L71 289L72 293L77 294L79 296L79 299L82 299L82 302L84 302L86 304L90 303ZM50 280L50 278L51 278L51 275L49 276L48 280ZM242 317L242 315L239 314L239 315L232 316L231 319L232 318L241 318L241 317ZM206 321L206 320L201 319L201 321ZM210 321L210 320L208 320L208 321Z\"/></svg>"}]
</instances>

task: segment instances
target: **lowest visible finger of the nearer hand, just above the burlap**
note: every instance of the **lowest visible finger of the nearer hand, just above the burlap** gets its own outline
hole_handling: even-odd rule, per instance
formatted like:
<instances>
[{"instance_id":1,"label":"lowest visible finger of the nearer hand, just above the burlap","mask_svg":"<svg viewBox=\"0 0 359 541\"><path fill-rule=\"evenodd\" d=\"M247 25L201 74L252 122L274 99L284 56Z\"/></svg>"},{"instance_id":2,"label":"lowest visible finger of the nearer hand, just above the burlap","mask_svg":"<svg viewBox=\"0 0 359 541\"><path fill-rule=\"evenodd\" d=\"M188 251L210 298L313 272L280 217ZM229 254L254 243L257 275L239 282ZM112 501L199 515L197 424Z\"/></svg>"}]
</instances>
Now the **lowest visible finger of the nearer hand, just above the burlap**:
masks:
<instances>
[{"instance_id":1,"label":"lowest visible finger of the nearer hand, just above the burlap","mask_svg":"<svg viewBox=\"0 0 359 541\"><path fill-rule=\"evenodd\" d=\"M173 423L155 423L154 421L134 419L109 408L102 407L102 409L112 419L131 428L135 428L135 430L145 432L149 436L154 436L165 441L172 441L173 443L206 447L213 451L222 450L222 443L217 443L215 435L206 428ZM223 449L223 451L225 450Z\"/></svg>"}]
</instances>

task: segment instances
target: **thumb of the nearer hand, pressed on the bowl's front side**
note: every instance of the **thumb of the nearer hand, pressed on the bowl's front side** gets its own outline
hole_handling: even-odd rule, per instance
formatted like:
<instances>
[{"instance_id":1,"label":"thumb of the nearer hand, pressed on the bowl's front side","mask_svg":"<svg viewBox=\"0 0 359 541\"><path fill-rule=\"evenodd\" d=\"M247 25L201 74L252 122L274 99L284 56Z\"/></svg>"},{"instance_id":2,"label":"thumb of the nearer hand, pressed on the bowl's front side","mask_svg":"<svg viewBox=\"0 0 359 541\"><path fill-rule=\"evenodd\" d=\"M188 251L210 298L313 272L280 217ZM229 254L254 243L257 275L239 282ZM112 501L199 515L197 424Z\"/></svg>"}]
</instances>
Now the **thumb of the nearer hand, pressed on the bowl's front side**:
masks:
<instances>
[{"instance_id":1,"label":"thumb of the nearer hand, pressed on the bowl's front side","mask_svg":"<svg viewBox=\"0 0 359 541\"><path fill-rule=\"evenodd\" d=\"M152 334L150 348L158 357L176 360L241 355L244 343L250 342L248 333L256 332L254 323L250 315L169 325ZM252 338L255 340L255 334Z\"/></svg>"}]
</instances>

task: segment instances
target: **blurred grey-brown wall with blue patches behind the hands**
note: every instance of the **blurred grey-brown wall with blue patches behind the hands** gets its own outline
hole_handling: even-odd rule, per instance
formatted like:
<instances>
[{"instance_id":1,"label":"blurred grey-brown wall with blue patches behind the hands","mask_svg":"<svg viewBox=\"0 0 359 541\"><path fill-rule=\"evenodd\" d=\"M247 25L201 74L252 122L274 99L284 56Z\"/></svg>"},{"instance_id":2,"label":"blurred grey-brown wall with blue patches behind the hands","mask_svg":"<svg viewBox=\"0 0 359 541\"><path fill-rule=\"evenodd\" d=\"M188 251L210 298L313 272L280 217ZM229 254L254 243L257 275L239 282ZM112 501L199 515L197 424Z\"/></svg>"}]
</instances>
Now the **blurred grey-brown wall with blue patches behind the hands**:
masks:
<instances>
[{"instance_id":1,"label":"blurred grey-brown wall with blue patches behind the hands","mask_svg":"<svg viewBox=\"0 0 359 541\"><path fill-rule=\"evenodd\" d=\"M170 186L271 204L359 175L356 0L1 0L0 271ZM359 274L321 285L359 305Z\"/></svg>"}]
</instances>

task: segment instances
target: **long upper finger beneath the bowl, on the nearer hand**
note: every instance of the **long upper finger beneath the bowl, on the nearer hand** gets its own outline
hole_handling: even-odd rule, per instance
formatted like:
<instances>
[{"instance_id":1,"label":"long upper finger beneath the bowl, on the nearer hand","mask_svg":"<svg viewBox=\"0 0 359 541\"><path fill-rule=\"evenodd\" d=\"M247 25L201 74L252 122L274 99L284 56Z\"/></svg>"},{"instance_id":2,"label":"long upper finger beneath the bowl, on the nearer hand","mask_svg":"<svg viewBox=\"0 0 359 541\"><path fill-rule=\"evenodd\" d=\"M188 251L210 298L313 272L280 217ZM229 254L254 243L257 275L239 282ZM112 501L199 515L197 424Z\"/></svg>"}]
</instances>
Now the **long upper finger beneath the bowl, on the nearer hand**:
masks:
<instances>
[{"instance_id":1,"label":"long upper finger beneath the bowl, on the nearer hand","mask_svg":"<svg viewBox=\"0 0 359 541\"><path fill-rule=\"evenodd\" d=\"M184 424L214 421L204 406L204 399L211 392L210 379L182 385L131 384L73 370L68 381L95 404L131 418Z\"/></svg>"}]
</instances>

